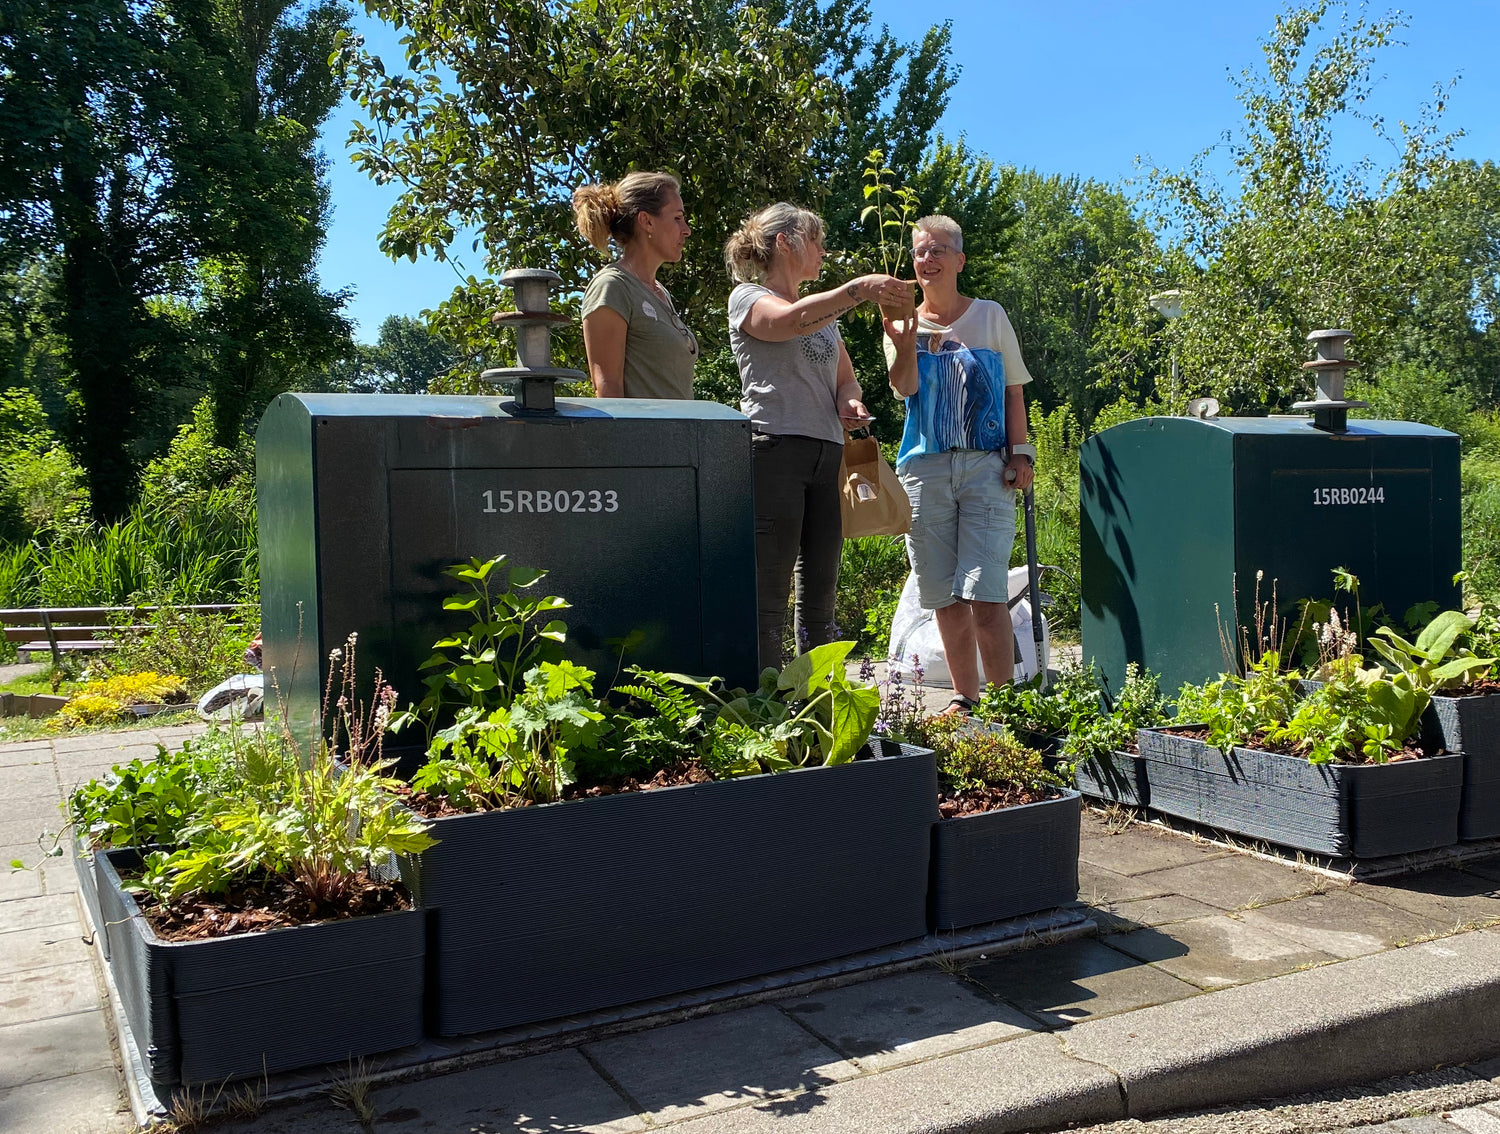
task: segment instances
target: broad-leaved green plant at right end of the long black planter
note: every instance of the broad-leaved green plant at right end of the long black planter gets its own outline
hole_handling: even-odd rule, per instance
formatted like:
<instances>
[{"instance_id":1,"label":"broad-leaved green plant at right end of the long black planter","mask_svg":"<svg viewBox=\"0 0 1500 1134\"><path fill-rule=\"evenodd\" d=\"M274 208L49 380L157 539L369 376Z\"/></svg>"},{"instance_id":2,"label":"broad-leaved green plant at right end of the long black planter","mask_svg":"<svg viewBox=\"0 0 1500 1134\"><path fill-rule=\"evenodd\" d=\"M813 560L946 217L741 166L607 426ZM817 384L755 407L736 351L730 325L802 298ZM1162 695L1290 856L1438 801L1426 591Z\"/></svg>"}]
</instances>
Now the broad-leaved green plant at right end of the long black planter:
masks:
<instances>
[{"instance_id":1,"label":"broad-leaved green plant at right end of the long black planter","mask_svg":"<svg viewBox=\"0 0 1500 1134\"><path fill-rule=\"evenodd\" d=\"M712 708L702 756L714 776L756 776L813 764L848 764L870 738L880 694L850 681L844 658L854 642L826 642L765 669L754 690L718 688L717 678L672 674Z\"/></svg>"}]
</instances>

